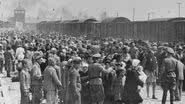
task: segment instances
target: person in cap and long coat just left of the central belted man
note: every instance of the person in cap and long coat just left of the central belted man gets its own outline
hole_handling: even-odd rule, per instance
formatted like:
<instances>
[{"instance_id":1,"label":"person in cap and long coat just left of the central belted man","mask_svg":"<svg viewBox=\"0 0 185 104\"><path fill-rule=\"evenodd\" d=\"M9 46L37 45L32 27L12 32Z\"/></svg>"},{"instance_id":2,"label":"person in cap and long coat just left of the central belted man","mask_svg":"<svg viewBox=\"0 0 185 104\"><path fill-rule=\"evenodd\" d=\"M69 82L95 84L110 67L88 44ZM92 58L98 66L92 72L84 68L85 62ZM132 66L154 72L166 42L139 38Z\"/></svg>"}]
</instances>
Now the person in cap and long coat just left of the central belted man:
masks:
<instances>
[{"instance_id":1,"label":"person in cap and long coat just left of the central belted man","mask_svg":"<svg viewBox=\"0 0 185 104\"><path fill-rule=\"evenodd\" d=\"M68 85L66 92L66 104L81 104L81 80L79 74L81 58L75 57L68 72Z\"/></svg>"}]
</instances>

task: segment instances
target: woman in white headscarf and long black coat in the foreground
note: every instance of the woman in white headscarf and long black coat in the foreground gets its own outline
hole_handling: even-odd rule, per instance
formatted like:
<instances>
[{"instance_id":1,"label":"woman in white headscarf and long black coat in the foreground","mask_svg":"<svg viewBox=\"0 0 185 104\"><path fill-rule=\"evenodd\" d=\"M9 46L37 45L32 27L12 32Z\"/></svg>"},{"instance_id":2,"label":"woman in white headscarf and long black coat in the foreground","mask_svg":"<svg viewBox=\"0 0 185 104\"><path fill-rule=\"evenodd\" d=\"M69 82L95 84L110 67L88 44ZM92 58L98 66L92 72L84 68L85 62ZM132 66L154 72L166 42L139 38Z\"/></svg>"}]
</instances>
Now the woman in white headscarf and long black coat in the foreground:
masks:
<instances>
[{"instance_id":1,"label":"woman in white headscarf and long black coat in the foreground","mask_svg":"<svg viewBox=\"0 0 185 104\"><path fill-rule=\"evenodd\" d=\"M139 86L143 87L144 82L139 79L138 71L142 70L142 66L139 65L140 61L134 59L126 71L126 81L124 86L124 93L122 101L125 104L139 104L143 99L140 95Z\"/></svg>"}]
</instances>

